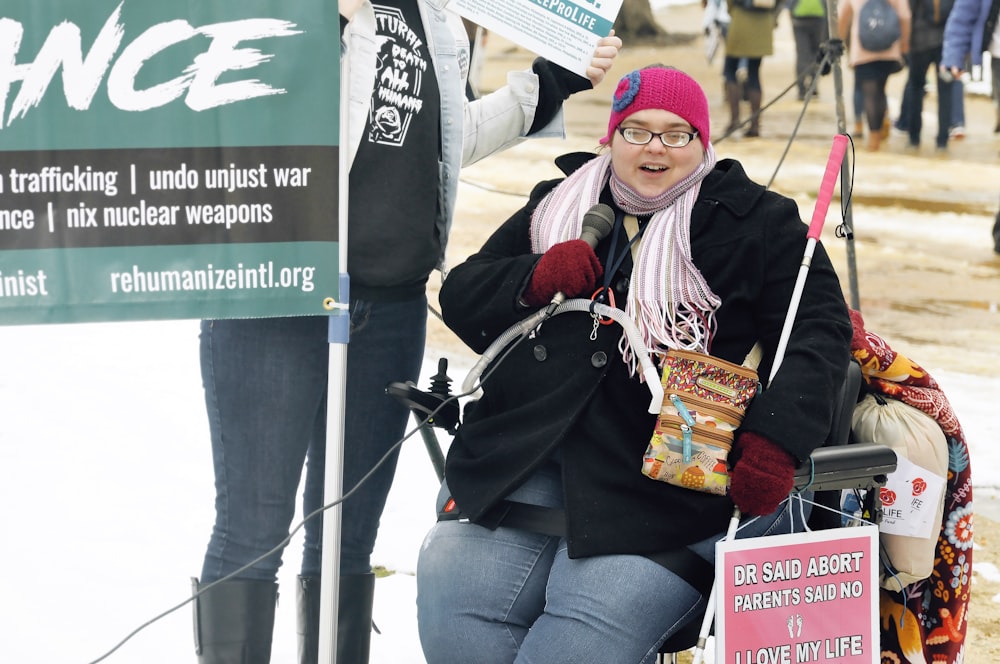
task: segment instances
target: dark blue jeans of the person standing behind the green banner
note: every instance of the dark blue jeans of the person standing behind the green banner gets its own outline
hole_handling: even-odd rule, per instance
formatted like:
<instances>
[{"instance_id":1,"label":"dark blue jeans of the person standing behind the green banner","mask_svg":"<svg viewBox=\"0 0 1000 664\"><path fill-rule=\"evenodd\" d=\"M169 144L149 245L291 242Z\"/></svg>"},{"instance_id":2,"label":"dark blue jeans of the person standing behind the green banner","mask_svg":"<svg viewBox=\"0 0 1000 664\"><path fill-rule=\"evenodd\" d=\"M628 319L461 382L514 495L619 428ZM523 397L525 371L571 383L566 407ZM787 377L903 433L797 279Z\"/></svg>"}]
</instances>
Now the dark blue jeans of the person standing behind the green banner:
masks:
<instances>
[{"instance_id":1,"label":"dark blue jeans of the person standing behind the green banner","mask_svg":"<svg viewBox=\"0 0 1000 664\"><path fill-rule=\"evenodd\" d=\"M352 300L347 351L344 491L401 437L409 413L385 393L416 381L427 324L424 296L405 302ZM288 536L302 481L303 513L323 505L328 321L325 317L206 320L201 370L215 467L215 525L201 580L215 581ZM342 574L370 570L378 522L398 450L343 503ZM321 569L322 519L306 523L301 574ZM281 550L238 578L273 581Z\"/></svg>"}]
</instances>

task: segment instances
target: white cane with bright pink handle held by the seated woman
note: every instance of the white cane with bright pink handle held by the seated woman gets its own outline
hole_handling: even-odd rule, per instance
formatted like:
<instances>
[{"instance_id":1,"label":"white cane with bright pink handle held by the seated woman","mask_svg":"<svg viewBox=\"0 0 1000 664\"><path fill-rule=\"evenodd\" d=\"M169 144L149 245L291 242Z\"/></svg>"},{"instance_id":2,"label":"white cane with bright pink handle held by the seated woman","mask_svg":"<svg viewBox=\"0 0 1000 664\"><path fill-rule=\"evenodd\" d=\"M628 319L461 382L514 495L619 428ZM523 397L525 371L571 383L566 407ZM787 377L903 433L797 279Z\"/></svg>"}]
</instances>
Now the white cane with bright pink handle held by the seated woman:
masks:
<instances>
[{"instance_id":1,"label":"white cane with bright pink handle held by the seated woman","mask_svg":"<svg viewBox=\"0 0 1000 664\"><path fill-rule=\"evenodd\" d=\"M847 150L847 136L837 134L833 137L833 147L830 149L830 158L826 162L826 172L820 183L819 192L816 195L816 207L813 209L812 221L809 223L809 231L806 233L806 249L802 255L802 263L799 265L799 274L795 280L795 287L792 290L791 303L788 306L788 313L785 315L785 323L781 328L781 336L778 339L778 347L774 352L774 362L771 365L771 375L768 376L767 384L770 385L778 373L778 367L784 359L785 349L788 346L788 338L792 334L792 324L795 322L795 314L798 312L799 301L802 299L802 289L805 287L806 277L809 274L809 266L812 264L813 252L816 250L816 243L823 232L823 223L826 221L826 213L833 199L833 188L836 184L837 175L840 171L840 164L844 159L844 152ZM733 516L729 520L729 529L726 531L726 541L731 542L736 539L736 530L740 525L740 509L733 509ZM701 664L705 654L705 644L708 642L708 635L712 629L712 621L715 619L715 602L718 579L712 583L712 590L708 594L708 607L705 609L705 618L701 623L701 631L698 633L698 642L695 645L694 664Z\"/></svg>"}]
</instances>

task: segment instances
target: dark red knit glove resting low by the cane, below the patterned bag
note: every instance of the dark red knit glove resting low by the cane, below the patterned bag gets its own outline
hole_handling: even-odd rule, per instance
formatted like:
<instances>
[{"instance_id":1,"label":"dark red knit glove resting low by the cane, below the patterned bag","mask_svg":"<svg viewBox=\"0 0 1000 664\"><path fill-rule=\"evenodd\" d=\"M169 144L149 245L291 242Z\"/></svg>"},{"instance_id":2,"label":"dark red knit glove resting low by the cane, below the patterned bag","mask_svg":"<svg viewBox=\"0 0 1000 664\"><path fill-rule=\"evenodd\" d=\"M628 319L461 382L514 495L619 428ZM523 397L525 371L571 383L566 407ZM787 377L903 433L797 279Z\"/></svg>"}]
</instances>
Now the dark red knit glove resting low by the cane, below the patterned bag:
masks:
<instances>
[{"instance_id":1,"label":"dark red knit glove resting low by the cane, below the patterned bag","mask_svg":"<svg viewBox=\"0 0 1000 664\"><path fill-rule=\"evenodd\" d=\"M778 509L795 485L795 459L767 438L744 431L736 439L741 456L729 495L740 512L764 516Z\"/></svg>"}]
</instances>

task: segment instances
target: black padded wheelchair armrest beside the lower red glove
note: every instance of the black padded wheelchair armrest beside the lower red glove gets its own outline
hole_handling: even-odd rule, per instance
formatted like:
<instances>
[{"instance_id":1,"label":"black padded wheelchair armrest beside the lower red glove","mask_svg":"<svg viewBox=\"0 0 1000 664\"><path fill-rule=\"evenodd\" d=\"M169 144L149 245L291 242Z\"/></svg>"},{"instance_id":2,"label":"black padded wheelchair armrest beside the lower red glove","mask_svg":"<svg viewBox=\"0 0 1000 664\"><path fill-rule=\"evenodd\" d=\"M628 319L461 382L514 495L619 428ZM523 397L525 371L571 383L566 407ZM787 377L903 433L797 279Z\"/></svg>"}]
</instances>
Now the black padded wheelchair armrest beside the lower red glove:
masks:
<instances>
[{"instance_id":1,"label":"black padded wheelchair armrest beside the lower red glove","mask_svg":"<svg viewBox=\"0 0 1000 664\"><path fill-rule=\"evenodd\" d=\"M896 470L896 453L885 445L855 443L820 447L795 471L795 489L814 491L884 486Z\"/></svg>"}]
</instances>

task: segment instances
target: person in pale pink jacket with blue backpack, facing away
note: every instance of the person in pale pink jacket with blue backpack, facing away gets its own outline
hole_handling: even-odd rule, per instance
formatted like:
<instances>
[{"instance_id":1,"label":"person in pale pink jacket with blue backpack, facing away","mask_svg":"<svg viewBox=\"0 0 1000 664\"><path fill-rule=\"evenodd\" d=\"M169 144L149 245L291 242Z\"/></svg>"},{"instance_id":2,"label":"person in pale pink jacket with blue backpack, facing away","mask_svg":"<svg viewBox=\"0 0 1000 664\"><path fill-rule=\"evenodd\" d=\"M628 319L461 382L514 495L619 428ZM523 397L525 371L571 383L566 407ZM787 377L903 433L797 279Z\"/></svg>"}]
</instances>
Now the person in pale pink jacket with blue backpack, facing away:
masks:
<instances>
[{"instance_id":1,"label":"person in pale pink jacket with blue backpack, facing away","mask_svg":"<svg viewBox=\"0 0 1000 664\"><path fill-rule=\"evenodd\" d=\"M848 59L854 68L855 85L861 97L868 121L868 149L877 151L885 137L882 129L888 117L885 86L889 76L903 69L903 58L910 50L910 5L907 0L888 0L899 18L900 36L882 51L869 51L858 36L861 8L871 0L846 0L840 7L838 29L847 43Z\"/></svg>"}]
</instances>

